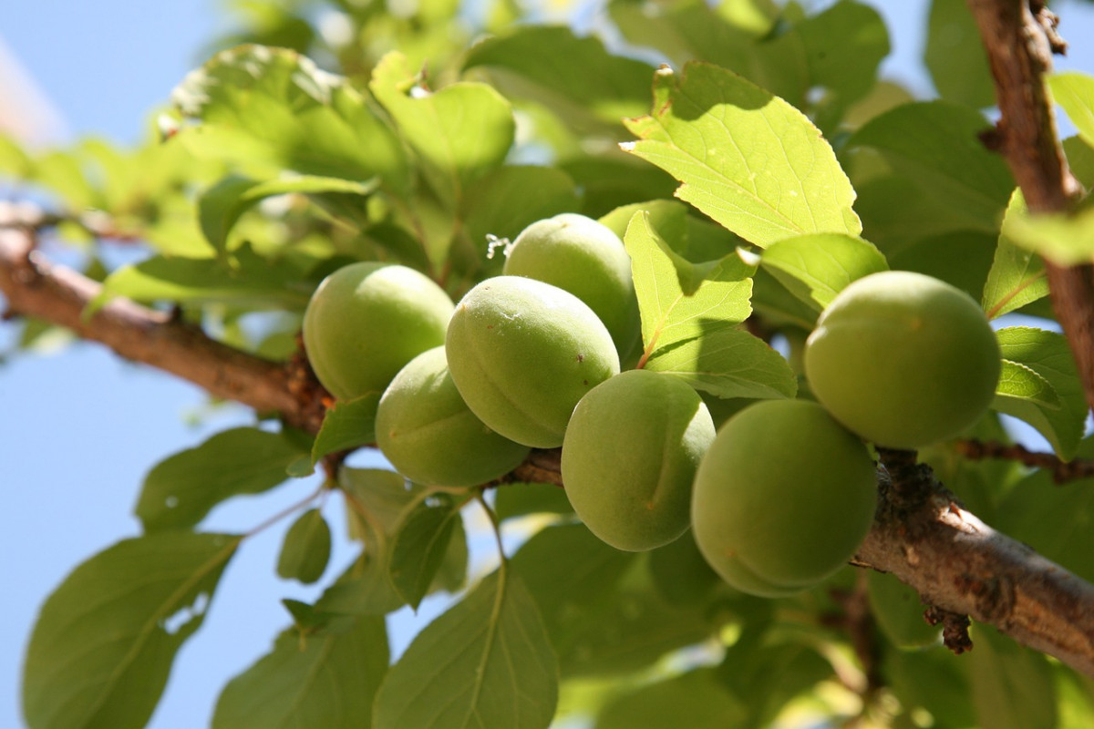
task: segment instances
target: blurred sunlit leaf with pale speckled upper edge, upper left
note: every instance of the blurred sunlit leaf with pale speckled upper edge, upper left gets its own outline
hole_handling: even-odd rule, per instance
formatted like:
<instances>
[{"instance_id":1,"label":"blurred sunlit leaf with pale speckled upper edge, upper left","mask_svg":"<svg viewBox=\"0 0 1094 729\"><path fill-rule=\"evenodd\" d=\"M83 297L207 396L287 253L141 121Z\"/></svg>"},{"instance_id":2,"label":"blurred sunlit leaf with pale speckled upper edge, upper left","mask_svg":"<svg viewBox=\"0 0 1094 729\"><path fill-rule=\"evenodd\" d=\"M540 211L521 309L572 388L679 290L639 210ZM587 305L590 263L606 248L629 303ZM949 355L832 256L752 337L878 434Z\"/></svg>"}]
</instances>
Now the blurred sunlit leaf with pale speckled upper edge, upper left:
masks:
<instances>
[{"instance_id":1,"label":"blurred sunlit leaf with pale speckled upper edge, upper left","mask_svg":"<svg viewBox=\"0 0 1094 729\"><path fill-rule=\"evenodd\" d=\"M242 164L247 174L409 180L395 132L345 79L284 48L238 46L191 71L172 93L188 119L178 132L199 156Z\"/></svg>"}]
</instances>

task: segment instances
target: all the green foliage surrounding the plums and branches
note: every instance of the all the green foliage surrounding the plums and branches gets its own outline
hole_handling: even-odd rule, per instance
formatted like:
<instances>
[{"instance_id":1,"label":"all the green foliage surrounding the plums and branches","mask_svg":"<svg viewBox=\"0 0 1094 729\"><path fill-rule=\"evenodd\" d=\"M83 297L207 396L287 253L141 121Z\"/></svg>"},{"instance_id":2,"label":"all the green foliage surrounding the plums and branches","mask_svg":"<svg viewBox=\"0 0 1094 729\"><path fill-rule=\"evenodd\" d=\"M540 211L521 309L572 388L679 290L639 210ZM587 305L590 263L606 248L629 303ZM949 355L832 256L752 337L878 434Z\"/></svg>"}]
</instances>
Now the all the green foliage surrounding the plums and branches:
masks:
<instances>
[{"instance_id":1,"label":"all the green foliage surrounding the plums and branches","mask_svg":"<svg viewBox=\"0 0 1094 729\"><path fill-rule=\"evenodd\" d=\"M177 86L159 139L45 155L4 142L0 169L51 196L59 235L103 281L92 308L113 296L171 305L272 360L291 356L309 295L346 262L406 263L458 296L500 270L485 255L491 236L559 212L600 217L633 261L642 366L726 413L799 393L794 354L857 278L918 270L968 291L991 318L1048 319L1037 255L1090 257L1089 205L1027 216L1003 162L978 143L990 78L971 44L952 45L954 33L975 35L959 7L932 4L927 60L943 99L916 102L878 81L887 32L852 0L816 14L764 0L612 0L610 27L642 51L626 56L570 27L512 24L522 13L510 2L478 15L454 0L406 12L248 3L245 43ZM341 23L337 42L315 31L321 12ZM481 31L491 34L466 45ZM1080 130L1069 161L1094 185L1094 79L1051 83ZM139 240L149 255L110 269L101 240ZM789 362L746 320L784 337ZM999 340L1004 377L976 435L1006 438L1004 413L1062 458L1094 456L1063 338L1046 322L1001 327ZM83 563L42 609L28 724L142 726L245 539L198 531L203 517L368 446L375 404L338 403L314 437L261 423L156 466L137 505L143 533ZM986 520L1094 578L1091 484L1055 490L1045 474L970 463L946 445L922 456ZM598 729L761 727L793 712L863 712L893 726L929 716L1028 729L1094 714L1089 683L988 630L956 662L935 632L910 627L921 607L885 576L866 585L848 568L802 596L759 600L720 584L690 537L643 555L606 546L554 486L484 495L344 467L321 492L289 530L279 574L327 577L331 493L359 556L314 604L286 601L292 625L225 686L216 727L515 728L556 715L595 716ZM461 593L465 506L525 539ZM461 595L389 667L384 615L435 591ZM856 658L841 628L848 596L863 593L880 632Z\"/></svg>"}]
</instances>

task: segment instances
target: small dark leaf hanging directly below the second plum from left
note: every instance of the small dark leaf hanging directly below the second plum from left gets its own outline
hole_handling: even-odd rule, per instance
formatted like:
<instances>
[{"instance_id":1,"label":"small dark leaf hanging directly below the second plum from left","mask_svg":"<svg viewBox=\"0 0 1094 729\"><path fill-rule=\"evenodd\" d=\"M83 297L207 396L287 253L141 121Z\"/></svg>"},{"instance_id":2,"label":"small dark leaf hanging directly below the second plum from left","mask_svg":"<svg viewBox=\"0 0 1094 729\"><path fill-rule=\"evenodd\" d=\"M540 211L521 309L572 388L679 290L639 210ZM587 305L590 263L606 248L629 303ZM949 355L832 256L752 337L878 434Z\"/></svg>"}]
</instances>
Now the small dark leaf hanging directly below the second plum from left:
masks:
<instances>
[{"instance_id":1,"label":"small dark leaf hanging directly below the second plum from left","mask_svg":"<svg viewBox=\"0 0 1094 729\"><path fill-rule=\"evenodd\" d=\"M395 590L415 610L441 568L459 520L452 497L438 493L419 503L399 525L388 569Z\"/></svg>"}]
</instances>

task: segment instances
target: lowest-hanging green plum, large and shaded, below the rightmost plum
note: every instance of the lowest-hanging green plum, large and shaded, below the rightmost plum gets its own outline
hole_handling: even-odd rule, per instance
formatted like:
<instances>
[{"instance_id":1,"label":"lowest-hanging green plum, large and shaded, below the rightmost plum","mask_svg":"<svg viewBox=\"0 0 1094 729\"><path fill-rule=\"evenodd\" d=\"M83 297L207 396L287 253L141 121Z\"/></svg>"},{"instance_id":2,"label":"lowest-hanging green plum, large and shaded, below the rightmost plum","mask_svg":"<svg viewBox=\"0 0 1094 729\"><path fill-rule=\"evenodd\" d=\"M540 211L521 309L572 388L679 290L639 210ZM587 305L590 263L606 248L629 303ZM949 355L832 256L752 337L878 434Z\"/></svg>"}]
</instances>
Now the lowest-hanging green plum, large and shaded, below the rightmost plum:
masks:
<instances>
[{"instance_id":1,"label":"lowest-hanging green plum, large and shaded, below the rightmost plum","mask_svg":"<svg viewBox=\"0 0 1094 729\"><path fill-rule=\"evenodd\" d=\"M842 566L876 506L866 446L805 400L766 400L718 432L696 473L691 522L710 566L763 597L793 595Z\"/></svg>"}]
</instances>

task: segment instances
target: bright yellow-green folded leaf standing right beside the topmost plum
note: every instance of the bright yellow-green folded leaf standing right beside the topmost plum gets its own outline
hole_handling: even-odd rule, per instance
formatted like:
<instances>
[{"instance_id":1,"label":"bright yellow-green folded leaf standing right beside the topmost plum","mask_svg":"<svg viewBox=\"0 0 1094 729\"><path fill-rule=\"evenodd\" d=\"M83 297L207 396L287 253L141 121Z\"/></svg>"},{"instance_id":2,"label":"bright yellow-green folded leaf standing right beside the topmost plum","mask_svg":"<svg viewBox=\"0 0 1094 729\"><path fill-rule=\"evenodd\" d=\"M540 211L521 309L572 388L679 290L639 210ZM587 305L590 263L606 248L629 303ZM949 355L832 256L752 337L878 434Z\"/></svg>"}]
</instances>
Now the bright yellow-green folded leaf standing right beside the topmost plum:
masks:
<instances>
[{"instance_id":1,"label":"bright yellow-green folded leaf standing right beside the topmost plum","mask_svg":"<svg viewBox=\"0 0 1094 729\"><path fill-rule=\"evenodd\" d=\"M624 236L647 355L675 342L709 336L748 318L755 268L731 254L708 270L673 251L650 214L636 213Z\"/></svg>"}]
</instances>

